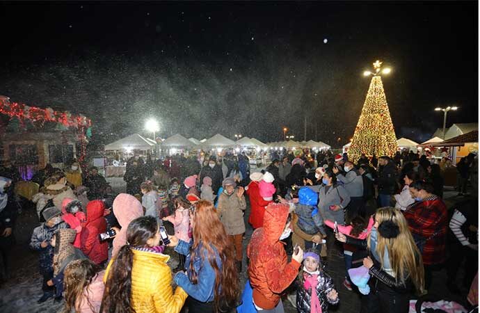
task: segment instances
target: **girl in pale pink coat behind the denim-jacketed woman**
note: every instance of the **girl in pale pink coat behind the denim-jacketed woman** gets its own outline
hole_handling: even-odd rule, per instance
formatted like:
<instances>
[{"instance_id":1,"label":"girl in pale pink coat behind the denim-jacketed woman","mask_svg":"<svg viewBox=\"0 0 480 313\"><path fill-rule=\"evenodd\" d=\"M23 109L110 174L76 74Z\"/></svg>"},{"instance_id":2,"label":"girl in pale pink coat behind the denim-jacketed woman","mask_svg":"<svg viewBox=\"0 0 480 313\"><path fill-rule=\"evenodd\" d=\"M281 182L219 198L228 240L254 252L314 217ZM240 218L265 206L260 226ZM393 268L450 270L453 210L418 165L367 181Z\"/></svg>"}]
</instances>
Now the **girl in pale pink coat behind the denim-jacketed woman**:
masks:
<instances>
[{"instance_id":1,"label":"girl in pale pink coat behind the denim-jacketed woman","mask_svg":"<svg viewBox=\"0 0 480 313\"><path fill-rule=\"evenodd\" d=\"M175 215L166 216L162 220L166 220L173 224L173 229L175 230L175 236L186 243L189 243L191 240L190 232L190 204L182 200L182 198L175 199ZM184 269L185 255L179 254L180 263L179 266L175 269L182 271Z\"/></svg>"}]
</instances>

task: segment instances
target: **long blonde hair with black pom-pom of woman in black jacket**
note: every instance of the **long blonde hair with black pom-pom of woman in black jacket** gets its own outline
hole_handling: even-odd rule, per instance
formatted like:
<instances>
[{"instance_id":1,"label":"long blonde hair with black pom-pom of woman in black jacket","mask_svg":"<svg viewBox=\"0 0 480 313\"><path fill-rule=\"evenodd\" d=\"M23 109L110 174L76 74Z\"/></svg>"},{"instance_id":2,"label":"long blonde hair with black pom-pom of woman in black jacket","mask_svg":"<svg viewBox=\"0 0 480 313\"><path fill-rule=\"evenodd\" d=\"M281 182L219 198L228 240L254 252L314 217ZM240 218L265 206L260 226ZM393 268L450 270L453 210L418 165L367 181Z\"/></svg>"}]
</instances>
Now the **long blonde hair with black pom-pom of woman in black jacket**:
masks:
<instances>
[{"instance_id":1,"label":"long blonde hair with black pom-pom of woman in black jacket","mask_svg":"<svg viewBox=\"0 0 480 313\"><path fill-rule=\"evenodd\" d=\"M397 281L405 282L410 277L417 291L422 293L424 290L422 255L408 229L405 217L399 209L383 207L376 211L375 219L378 225L386 220L391 220L399 227L399 234L395 238L384 238L377 232L376 252L380 257L382 267L385 262L383 255L386 247L390 258L390 266ZM367 245L370 248L370 235L367 239Z\"/></svg>"}]
</instances>

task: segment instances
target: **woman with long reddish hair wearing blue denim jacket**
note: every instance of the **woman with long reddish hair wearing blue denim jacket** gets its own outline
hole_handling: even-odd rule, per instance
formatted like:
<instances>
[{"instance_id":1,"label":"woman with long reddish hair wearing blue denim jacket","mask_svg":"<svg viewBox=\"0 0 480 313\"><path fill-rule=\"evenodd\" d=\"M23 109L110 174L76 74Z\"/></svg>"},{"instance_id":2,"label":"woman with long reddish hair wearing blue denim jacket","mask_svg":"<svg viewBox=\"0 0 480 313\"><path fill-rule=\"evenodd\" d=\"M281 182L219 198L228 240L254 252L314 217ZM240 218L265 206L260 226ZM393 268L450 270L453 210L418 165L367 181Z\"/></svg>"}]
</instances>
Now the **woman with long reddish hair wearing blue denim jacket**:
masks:
<instances>
[{"instance_id":1,"label":"woman with long reddish hair wearing blue denim jacket","mask_svg":"<svg viewBox=\"0 0 480 313\"><path fill-rule=\"evenodd\" d=\"M189 313L227 312L239 297L233 246L211 202L196 202L190 223L193 242L179 240L175 248L186 255L186 273L178 272L174 280L189 294Z\"/></svg>"}]
</instances>

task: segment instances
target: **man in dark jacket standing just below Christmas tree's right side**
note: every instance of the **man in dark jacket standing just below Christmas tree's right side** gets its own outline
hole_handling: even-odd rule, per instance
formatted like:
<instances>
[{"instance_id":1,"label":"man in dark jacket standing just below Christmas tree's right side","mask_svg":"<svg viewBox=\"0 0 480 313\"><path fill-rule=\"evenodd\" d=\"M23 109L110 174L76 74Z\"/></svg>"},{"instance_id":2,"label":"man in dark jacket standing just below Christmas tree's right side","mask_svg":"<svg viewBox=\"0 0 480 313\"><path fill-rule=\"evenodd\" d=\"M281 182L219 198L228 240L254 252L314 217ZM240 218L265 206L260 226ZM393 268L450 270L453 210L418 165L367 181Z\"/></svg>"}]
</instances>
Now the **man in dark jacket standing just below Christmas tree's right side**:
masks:
<instances>
[{"instance_id":1,"label":"man in dark jacket standing just below Christmas tree's right side","mask_svg":"<svg viewBox=\"0 0 480 313\"><path fill-rule=\"evenodd\" d=\"M378 165L378 204L390 207L390 198L397 192L397 168L389 157L380 157Z\"/></svg>"}]
</instances>

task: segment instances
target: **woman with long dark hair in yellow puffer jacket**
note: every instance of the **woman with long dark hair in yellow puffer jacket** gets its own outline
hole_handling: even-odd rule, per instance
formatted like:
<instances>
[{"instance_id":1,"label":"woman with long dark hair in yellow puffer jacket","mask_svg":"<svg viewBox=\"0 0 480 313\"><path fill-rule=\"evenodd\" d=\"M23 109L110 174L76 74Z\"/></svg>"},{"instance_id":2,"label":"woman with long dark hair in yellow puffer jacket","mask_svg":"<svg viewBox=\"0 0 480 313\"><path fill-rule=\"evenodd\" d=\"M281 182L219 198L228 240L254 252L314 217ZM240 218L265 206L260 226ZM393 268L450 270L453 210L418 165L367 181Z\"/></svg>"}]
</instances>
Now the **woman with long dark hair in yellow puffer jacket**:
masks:
<instances>
[{"instance_id":1,"label":"woman with long dark hair in yellow puffer jacket","mask_svg":"<svg viewBox=\"0 0 480 313\"><path fill-rule=\"evenodd\" d=\"M105 274L104 313L182 310L187 294L172 289L168 255L159 246L159 224L153 216L129 223L127 244L111 259Z\"/></svg>"}]
</instances>

